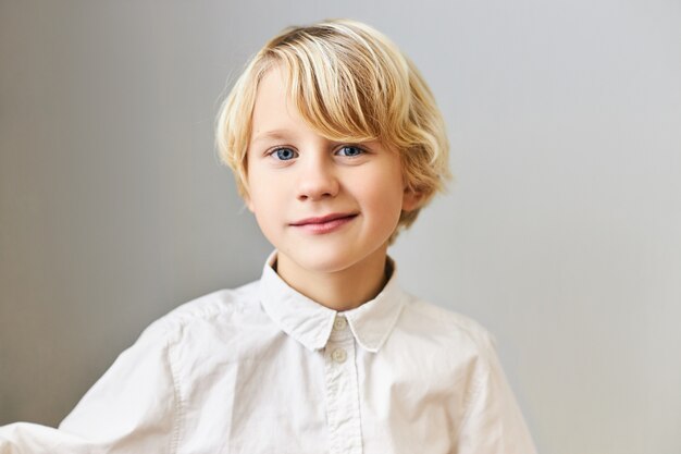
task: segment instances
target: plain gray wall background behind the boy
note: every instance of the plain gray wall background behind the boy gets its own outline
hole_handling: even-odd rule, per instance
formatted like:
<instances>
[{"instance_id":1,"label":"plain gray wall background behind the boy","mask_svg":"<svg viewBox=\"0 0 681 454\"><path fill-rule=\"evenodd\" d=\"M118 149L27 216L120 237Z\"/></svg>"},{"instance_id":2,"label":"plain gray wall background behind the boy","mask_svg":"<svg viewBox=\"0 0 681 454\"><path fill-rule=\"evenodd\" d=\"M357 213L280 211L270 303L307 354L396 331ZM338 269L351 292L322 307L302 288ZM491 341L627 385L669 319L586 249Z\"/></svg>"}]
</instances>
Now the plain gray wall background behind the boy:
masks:
<instances>
[{"instance_id":1,"label":"plain gray wall background behind the boy","mask_svg":"<svg viewBox=\"0 0 681 454\"><path fill-rule=\"evenodd\" d=\"M212 145L225 81L349 16L417 62L457 183L392 254L476 318L543 453L681 452L681 4L0 1L0 424L55 425L270 246Z\"/></svg>"}]
</instances>

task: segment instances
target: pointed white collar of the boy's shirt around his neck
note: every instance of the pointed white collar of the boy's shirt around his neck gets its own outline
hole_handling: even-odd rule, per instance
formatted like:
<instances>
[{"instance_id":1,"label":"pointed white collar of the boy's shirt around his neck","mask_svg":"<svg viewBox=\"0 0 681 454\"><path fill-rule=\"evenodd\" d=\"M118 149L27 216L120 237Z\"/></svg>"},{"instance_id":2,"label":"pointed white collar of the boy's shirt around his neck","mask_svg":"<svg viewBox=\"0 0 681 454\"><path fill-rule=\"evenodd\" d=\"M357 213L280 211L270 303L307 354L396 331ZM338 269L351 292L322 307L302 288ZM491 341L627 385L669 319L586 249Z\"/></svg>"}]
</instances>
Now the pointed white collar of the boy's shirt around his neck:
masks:
<instances>
[{"instance_id":1,"label":"pointed white collar of the boy's shirt around his neck","mask_svg":"<svg viewBox=\"0 0 681 454\"><path fill-rule=\"evenodd\" d=\"M323 348L336 315L345 316L357 342L375 353L389 336L406 303L406 295L397 283L395 262L389 257L387 259L393 272L381 293L355 309L338 312L298 293L284 282L272 268L276 260L274 250L260 279L262 307L282 331L310 351Z\"/></svg>"}]
</instances>

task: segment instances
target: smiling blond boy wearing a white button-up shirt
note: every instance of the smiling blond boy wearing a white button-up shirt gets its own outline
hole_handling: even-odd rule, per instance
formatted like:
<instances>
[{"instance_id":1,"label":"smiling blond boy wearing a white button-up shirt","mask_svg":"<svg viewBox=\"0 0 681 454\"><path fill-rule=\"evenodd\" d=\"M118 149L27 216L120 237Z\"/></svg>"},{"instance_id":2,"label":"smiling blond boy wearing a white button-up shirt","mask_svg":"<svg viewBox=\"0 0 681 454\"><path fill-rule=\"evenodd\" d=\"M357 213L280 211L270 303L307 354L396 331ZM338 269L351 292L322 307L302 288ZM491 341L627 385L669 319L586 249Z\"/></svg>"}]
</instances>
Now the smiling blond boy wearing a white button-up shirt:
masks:
<instances>
[{"instance_id":1,"label":"smiling blond boy wearing a white button-up shirt","mask_svg":"<svg viewBox=\"0 0 681 454\"><path fill-rule=\"evenodd\" d=\"M387 256L449 176L393 44L351 21L285 30L218 145L275 247L261 279L152 323L59 430L7 426L0 453L534 453L491 336L401 291Z\"/></svg>"}]
</instances>

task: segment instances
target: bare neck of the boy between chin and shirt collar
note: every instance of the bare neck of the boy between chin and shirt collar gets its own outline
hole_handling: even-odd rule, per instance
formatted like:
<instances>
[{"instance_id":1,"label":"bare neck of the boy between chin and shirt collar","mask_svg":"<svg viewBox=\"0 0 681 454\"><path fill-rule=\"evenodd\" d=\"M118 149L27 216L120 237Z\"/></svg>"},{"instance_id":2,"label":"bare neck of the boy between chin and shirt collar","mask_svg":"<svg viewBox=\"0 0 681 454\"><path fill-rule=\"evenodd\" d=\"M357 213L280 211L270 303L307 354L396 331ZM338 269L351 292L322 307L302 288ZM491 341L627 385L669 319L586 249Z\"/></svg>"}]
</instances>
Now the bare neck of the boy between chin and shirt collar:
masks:
<instances>
[{"instance_id":1,"label":"bare neck of the boy between chin and shirt collar","mask_svg":"<svg viewBox=\"0 0 681 454\"><path fill-rule=\"evenodd\" d=\"M284 254L276 259L277 274L308 298L334 309L354 309L373 299L385 286L387 245L358 263L338 271L310 271Z\"/></svg>"}]
</instances>

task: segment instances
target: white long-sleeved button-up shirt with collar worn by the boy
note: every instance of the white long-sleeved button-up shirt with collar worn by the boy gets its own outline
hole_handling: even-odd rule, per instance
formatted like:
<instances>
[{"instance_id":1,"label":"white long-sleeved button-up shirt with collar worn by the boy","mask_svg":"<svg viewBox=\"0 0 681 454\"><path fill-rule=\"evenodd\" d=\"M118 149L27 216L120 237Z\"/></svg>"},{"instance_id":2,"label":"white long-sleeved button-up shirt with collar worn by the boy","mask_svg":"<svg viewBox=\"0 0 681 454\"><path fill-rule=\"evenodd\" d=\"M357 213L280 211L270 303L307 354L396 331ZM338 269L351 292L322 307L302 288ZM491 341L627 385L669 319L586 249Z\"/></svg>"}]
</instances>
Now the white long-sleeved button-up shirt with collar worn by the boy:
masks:
<instances>
[{"instance_id":1,"label":"white long-sleeved button-up shirt with collar worn by the boy","mask_svg":"<svg viewBox=\"0 0 681 454\"><path fill-rule=\"evenodd\" d=\"M59 429L0 428L0 454L535 453L478 323L407 294L396 272L336 312L274 259L149 326Z\"/></svg>"}]
</instances>

